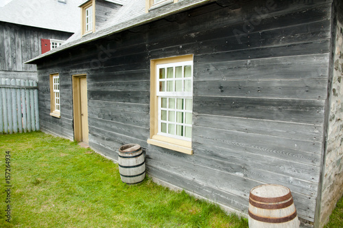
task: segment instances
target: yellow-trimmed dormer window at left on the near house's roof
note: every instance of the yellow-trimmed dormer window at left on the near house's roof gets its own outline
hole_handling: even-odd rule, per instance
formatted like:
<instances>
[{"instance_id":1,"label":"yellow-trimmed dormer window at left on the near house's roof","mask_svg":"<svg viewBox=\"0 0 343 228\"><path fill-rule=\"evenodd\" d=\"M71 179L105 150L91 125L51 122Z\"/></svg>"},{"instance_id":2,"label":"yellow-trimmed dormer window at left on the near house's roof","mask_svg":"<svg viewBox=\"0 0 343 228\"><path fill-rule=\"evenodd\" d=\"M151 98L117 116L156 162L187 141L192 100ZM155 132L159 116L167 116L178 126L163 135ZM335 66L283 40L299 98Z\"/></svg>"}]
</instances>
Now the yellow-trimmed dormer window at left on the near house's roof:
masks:
<instances>
[{"instance_id":1,"label":"yellow-trimmed dormer window at left on the near house's roof","mask_svg":"<svg viewBox=\"0 0 343 228\"><path fill-rule=\"evenodd\" d=\"M95 31L95 0L89 0L82 5L81 8L81 25L82 35Z\"/></svg>"}]
</instances>

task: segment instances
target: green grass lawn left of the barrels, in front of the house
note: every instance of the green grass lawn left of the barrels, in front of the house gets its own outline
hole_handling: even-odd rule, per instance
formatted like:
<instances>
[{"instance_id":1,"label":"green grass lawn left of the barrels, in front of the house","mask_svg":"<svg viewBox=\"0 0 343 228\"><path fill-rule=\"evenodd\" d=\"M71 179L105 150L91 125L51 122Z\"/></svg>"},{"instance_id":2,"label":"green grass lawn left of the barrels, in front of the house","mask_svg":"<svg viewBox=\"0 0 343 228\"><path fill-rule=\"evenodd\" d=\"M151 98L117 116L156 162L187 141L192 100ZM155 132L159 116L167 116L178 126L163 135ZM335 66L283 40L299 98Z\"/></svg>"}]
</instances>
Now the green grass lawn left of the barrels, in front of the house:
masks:
<instances>
[{"instance_id":1,"label":"green grass lawn left of the barrels, in front of the house","mask_svg":"<svg viewBox=\"0 0 343 228\"><path fill-rule=\"evenodd\" d=\"M244 218L150 179L126 185L117 164L67 139L40 132L0 135L0 153L0 227L248 227Z\"/></svg>"}]
</instances>

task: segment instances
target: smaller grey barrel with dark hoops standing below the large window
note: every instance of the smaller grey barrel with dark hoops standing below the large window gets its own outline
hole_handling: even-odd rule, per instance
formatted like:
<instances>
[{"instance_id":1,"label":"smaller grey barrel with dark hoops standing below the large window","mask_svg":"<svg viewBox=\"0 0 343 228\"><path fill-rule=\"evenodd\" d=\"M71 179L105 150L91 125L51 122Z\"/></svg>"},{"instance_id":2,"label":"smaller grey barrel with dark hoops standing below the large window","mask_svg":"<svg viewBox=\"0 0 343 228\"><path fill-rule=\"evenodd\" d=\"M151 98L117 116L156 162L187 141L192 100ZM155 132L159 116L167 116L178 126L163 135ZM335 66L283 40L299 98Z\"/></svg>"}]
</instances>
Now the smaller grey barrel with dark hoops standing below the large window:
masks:
<instances>
[{"instance_id":1,"label":"smaller grey barrel with dark hoops standing below the large window","mask_svg":"<svg viewBox=\"0 0 343 228\"><path fill-rule=\"evenodd\" d=\"M126 144L119 148L119 174L128 184L140 183L145 178L145 159L141 146Z\"/></svg>"}]
</instances>

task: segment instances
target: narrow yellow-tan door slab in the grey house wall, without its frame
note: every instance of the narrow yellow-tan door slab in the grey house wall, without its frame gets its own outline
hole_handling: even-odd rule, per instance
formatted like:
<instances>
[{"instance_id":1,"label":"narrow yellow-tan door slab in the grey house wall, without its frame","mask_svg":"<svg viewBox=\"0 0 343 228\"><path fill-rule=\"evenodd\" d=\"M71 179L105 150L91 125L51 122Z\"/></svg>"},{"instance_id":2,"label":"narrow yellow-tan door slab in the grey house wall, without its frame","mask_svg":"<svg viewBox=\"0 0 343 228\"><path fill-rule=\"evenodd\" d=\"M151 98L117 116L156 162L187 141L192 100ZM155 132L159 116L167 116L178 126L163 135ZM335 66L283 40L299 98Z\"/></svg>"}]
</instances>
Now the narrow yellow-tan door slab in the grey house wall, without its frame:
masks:
<instances>
[{"instance_id":1,"label":"narrow yellow-tan door slab in the grey house wall, without its frame","mask_svg":"<svg viewBox=\"0 0 343 228\"><path fill-rule=\"evenodd\" d=\"M80 105L82 141L88 144L88 107L86 78L80 78Z\"/></svg>"}]
</instances>

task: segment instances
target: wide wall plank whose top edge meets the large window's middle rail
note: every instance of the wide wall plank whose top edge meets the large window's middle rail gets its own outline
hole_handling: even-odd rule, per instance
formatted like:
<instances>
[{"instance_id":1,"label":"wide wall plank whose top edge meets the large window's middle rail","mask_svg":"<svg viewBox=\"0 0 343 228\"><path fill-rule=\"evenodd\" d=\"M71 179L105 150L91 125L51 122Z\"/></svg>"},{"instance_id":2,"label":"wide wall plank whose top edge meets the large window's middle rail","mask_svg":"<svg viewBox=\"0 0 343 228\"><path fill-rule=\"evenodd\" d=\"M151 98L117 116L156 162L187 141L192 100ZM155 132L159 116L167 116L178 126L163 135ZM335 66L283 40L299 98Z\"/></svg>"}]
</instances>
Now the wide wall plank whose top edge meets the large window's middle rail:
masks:
<instances>
[{"instance_id":1,"label":"wide wall plank whose top edge meets the large window's middle rail","mask_svg":"<svg viewBox=\"0 0 343 228\"><path fill-rule=\"evenodd\" d=\"M324 101L194 96L193 112L304 124L322 124Z\"/></svg>"}]
</instances>

